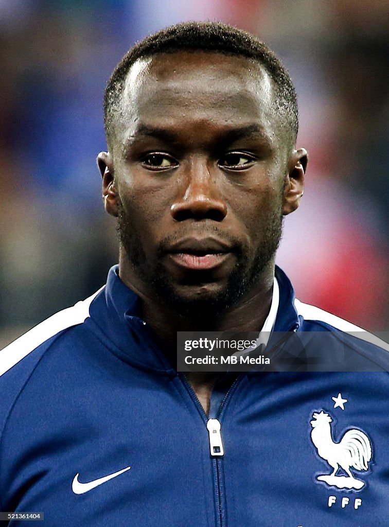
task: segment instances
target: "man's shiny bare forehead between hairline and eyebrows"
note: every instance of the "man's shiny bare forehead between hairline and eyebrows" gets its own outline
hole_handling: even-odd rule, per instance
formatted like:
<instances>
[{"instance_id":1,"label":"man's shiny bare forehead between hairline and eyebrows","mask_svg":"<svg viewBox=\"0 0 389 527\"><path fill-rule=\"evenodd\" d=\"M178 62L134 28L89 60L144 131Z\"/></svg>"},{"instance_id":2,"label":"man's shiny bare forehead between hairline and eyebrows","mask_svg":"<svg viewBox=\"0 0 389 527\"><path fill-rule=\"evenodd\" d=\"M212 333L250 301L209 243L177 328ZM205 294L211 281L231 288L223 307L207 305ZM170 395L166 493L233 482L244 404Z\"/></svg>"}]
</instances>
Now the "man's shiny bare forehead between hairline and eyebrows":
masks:
<instances>
[{"instance_id":1,"label":"man's shiny bare forehead between hairline and eyebrows","mask_svg":"<svg viewBox=\"0 0 389 527\"><path fill-rule=\"evenodd\" d=\"M136 61L125 81L116 139L140 124L245 126L275 134L273 82L245 57L216 52L157 54Z\"/></svg>"}]
</instances>

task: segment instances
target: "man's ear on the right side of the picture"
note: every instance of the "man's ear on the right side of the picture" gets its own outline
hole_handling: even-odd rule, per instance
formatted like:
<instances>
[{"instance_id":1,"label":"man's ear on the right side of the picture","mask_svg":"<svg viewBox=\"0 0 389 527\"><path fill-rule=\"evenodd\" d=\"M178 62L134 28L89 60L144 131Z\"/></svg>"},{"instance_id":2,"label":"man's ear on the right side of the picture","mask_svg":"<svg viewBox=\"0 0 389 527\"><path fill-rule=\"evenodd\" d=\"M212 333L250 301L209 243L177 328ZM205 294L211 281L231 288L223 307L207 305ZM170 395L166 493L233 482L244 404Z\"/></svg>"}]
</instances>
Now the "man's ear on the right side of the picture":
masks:
<instances>
[{"instance_id":1,"label":"man's ear on the right side of the picture","mask_svg":"<svg viewBox=\"0 0 389 527\"><path fill-rule=\"evenodd\" d=\"M288 162L288 174L284 190L283 214L296 210L304 194L305 171L308 154L305 148L294 150Z\"/></svg>"}]
</instances>

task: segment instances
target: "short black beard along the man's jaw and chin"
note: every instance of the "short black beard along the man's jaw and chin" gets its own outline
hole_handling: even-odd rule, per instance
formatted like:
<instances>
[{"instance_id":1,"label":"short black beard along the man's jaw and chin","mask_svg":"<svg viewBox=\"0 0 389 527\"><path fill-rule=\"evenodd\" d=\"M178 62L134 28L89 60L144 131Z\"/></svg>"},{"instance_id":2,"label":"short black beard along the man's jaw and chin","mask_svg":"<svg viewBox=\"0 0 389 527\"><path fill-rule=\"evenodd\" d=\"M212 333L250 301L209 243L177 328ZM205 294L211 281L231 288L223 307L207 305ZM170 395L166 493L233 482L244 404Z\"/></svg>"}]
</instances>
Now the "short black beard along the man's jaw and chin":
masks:
<instances>
[{"instance_id":1,"label":"short black beard along the man's jaw and chin","mask_svg":"<svg viewBox=\"0 0 389 527\"><path fill-rule=\"evenodd\" d=\"M220 238L230 241L231 246L235 246L234 253L237 262L228 277L226 286L203 298L197 298L195 295L182 296L174 288L172 277L161 262L163 247L166 247L173 240L172 237L161 240L157 251L157 263L150 265L142 247L141 229L139 229L139 225L134 225L132 218L125 212L119 197L117 200L117 232L134 273L143 284L148 286L150 291L157 295L162 304L166 304L170 308L174 306L174 310L182 317L207 320L207 318L214 318L224 310L236 305L257 284L264 269L274 259L281 240L284 219L280 202L277 205L279 206L274 207L269 213L267 225L262 226L264 231L260 245L251 258L244 253L237 240L229 239L228 235L221 232L217 226L208 227L209 234L219 234ZM190 282L188 279L185 285L200 286L214 281L211 279L209 271L199 271L196 276L196 281L193 279Z\"/></svg>"}]
</instances>

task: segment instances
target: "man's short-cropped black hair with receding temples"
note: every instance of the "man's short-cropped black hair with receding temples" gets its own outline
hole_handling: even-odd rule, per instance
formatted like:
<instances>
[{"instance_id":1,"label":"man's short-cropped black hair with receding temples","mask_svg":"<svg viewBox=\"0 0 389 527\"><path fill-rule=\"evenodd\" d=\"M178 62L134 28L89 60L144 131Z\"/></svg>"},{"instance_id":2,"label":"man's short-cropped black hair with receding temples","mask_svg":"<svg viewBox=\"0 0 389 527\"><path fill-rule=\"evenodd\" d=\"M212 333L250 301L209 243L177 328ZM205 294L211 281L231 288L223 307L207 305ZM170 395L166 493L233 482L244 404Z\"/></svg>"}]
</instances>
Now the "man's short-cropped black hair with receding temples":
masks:
<instances>
[{"instance_id":1,"label":"man's short-cropped black hair with receding temples","mask_svg":"<svg viewBox=\"0 0 389 527\"><path fill-rule=\"evenodd\" d=\"M273 80L277 111L293 144L298 131L297 96L289 72L276 54L256 36L221 22L185 22L169 26L135 44L115 67L104 93L104 126L107 141L120 108L127 74L135 61L159 53L209 51L251 58Z\"/></svg>"}]
</instances>

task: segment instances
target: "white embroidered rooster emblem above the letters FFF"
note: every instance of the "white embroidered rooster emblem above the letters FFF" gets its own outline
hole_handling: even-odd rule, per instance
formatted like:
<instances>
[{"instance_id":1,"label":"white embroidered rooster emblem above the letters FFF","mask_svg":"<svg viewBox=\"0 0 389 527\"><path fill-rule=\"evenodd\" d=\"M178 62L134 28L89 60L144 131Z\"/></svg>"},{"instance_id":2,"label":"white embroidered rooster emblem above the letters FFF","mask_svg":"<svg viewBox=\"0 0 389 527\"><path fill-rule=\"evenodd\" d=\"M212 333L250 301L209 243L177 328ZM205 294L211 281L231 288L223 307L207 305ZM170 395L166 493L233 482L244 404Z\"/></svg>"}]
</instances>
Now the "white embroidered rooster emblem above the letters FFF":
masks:
<instances>
[{"instance_id":1,"label":"white embroidered rooster emblem above the letters FFF","mask_svg":"<svg viewBox=\"0 0 389 527\"><path fill-rule=\"evenodd\" d=\"M319 481L338 489L362 489L364 482L357 480L350 469L367 470L368 463L372 458L372 446L369 438L361 430L348 430L339 443L335 443L331 436L331 417L325 412L314 413L312 432L310 436L320 457L334 469L332 474L317 476ZM347 474L337 476L341 467Z\"/></svg>"}]
</instances>

